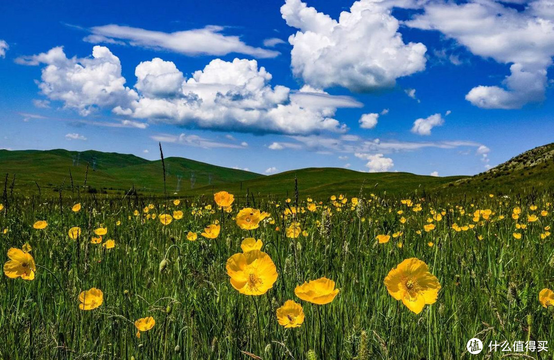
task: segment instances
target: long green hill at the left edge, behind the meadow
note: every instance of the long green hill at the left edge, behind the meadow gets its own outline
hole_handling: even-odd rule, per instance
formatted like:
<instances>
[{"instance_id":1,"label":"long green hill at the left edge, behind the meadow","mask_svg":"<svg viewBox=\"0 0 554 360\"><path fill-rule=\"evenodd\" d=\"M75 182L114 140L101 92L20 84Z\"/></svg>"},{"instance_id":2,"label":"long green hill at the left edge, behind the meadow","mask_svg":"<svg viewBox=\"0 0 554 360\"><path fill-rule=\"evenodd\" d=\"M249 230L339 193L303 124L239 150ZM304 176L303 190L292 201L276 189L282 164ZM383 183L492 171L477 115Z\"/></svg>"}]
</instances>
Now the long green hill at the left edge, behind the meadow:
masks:
<instances>
[{"instance_id":1,"label":"long green hill at the left edge, behind the meadow","mask_svg":"<svg viewBox=\"0 0 554 360\"><path fill-rule=\"evenodd\" d=\"M167 191L187 191L209 184L245 181L260 174L214 166L185 158L168 157L166 163ZM88 166L88 173L86 171ZM70 175L71 173L71 175ZM100 151L67 150L0 150L0 176L2 182L8 174L8 187L15 174L14 192L88 186L87 191L124 193L132 186L141 193L163 193L161 160L149 161L134 155Z\"/></svg>"}]
</instances>

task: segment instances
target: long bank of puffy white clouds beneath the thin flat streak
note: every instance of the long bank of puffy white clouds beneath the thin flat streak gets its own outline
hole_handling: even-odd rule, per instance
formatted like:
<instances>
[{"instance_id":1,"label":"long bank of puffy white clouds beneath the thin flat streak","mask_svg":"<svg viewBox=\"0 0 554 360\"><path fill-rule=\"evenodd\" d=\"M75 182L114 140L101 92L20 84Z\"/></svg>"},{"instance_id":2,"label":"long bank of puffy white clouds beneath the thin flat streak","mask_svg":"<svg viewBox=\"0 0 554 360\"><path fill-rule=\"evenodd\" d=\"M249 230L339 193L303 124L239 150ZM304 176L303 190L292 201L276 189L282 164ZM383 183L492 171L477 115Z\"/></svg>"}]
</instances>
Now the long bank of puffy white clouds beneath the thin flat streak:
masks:
<instances>
[{"instance_id":1,"label":"long bank of puffy white clouds beneath the thin flat streak","mask_svg":"<svg viewBox=\"0 0 554 360\"><path fill-rule=\"evenodd\" d=\"M337 108L362 106L350 96L316 89L291 94L286 86L271 86L272 75L256 60L214 59L190 78L171 61L142 61L134 89L124 85L119 58L98 45L92 58L68 58L58 47L17 61L46 64L42 93L83 116L98 107L134 119L219 131L343 133L346 125L334 119Z\"/></svg>"}]
</instances>

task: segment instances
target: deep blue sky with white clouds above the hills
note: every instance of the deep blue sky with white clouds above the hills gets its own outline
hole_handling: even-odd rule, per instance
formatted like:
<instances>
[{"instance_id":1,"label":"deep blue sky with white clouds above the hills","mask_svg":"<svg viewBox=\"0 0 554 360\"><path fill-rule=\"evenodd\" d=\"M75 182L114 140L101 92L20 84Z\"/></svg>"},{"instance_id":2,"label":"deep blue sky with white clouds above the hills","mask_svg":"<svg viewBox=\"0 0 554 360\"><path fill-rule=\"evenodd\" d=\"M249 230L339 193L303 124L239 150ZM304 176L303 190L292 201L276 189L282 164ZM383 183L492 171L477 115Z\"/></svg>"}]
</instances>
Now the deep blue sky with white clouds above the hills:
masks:
<instances>
[{"instance_id":1,"label":"deep blue sky with white clouds above the hills","mask_svg":"<svg viewBox=\"0 0 554 360\"><path fill-rule=\"evenodd\" d=\"M10 2L0 148L475 174L554 141L554 5Z\"/></svg>"}]
</instances>

